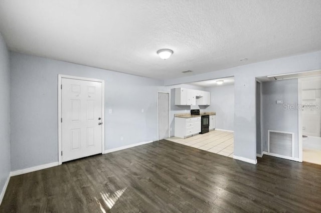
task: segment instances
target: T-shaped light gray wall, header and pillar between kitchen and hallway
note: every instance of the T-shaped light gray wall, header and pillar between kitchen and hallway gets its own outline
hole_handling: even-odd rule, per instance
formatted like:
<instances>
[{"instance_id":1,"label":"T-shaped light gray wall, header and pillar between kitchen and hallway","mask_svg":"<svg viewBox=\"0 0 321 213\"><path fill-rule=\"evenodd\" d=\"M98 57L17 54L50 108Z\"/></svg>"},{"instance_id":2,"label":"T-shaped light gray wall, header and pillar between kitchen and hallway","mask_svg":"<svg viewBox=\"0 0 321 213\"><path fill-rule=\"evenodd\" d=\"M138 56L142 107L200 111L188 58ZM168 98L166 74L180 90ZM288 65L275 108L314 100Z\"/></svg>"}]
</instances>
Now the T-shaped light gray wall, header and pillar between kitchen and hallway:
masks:
<instances>
[{"instance_id":1,"label":"T-shaped light gray wall, header and pillar between kitchen and hallway","mask_svg":"<svg viewBox=\"0 0 321 213\"><path fill-rule=\"evenodd\" d=\"M321 51L167 79L165 85L234 76L234 155L256 160L256 77L316 69L321 69Z\"/></svg>"}]
</instances>

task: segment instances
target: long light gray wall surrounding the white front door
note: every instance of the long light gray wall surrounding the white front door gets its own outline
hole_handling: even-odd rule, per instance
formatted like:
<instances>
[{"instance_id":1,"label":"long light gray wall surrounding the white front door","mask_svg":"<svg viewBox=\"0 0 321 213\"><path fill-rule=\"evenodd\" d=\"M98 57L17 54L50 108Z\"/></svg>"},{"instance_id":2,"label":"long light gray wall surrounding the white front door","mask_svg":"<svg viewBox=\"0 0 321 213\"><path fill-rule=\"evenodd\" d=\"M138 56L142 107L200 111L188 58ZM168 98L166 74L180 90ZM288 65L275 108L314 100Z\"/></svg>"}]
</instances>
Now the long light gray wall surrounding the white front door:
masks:
<instances>
[{"instance_id":1,"label":"long light gray wall surrounding the white front door","mask_svg":"<svg viewBox=\"0 0 321 213\"><path fill-rule=\"evenodd\" d=\"M58 161L58 74L105 80L106 149L157 140L163 81L17 52L11 67L12 170Z\"/></svg>"}]
</instances>

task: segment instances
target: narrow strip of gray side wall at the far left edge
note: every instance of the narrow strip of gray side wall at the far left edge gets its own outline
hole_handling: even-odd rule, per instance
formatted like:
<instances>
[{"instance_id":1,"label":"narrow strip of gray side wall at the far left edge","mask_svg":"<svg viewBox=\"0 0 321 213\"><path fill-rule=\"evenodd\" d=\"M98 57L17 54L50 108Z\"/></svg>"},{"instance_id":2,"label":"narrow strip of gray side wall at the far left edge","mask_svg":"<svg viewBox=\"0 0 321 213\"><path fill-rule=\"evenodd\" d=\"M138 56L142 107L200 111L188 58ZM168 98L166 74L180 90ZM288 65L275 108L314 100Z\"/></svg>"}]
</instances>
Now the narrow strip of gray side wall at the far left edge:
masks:
<instances>
[{"instance_id":1,"label":"narrow strip of gray side wall at the far left edge","mask_svg":"<svg viewBox=\"0 0 321 213\"><path fill-rule=\"evenodd\" d=\"M0 34L0 193L10 174L10 58Z\"/></svg>"}]
</instances>

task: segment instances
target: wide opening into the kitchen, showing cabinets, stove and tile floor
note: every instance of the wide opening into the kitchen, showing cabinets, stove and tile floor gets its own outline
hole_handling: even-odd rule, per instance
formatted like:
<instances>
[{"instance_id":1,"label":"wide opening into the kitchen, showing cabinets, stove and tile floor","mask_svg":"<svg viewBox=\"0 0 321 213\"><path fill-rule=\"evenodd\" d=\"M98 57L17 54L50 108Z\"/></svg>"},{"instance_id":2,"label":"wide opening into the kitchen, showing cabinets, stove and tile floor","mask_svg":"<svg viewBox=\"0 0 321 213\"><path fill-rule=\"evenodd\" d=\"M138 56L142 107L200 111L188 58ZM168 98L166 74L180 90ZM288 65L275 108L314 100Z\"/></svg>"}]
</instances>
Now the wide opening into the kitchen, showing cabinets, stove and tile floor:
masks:
<instances>
[{"instance_id":1,"label":"wide opening into the kitchen, showing cabinets, stove and tile floor","mask_svg":"<svg viewBox=\"0 0 321 213\"><path fill-rule=\"evenodd\" d=\"M172 85L167 140L233 158L234 92L234 76Z\"/></svg>"}]
</instances>

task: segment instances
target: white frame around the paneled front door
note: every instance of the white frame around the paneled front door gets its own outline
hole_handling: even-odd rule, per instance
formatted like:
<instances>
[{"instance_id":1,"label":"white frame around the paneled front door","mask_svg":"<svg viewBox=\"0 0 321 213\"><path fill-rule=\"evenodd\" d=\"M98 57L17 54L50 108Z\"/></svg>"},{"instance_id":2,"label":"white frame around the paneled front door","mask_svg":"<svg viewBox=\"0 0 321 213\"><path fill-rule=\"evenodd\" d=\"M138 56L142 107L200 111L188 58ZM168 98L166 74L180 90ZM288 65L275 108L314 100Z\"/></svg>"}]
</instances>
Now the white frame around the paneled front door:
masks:
<instances>
[{"instance_id":1,"label":"white frame around the paneled front door","mask_svg":"<svg viewBox=\"0 0 321 213\"><path fill-rule=\"evenodd\" d=\"M71 76L71 75L64 75L64 74L58 74L58 163L59 165L62 164L62 157L61 157L61 151L62 151L62 125L61 125L61 82L62 78L69 78L69 79L76 79L76 80L88 80L88 81L96 81L96 82L101 82L101 118L102 118L102 124L101 124L101 136L102 136L102 141L101 141L101 150L102 153L105 153L105 81L100 80L100 79L95 79L95 78L88 78L88 77L78 77L78 76Z\"/></svg>"}]
</instances>

